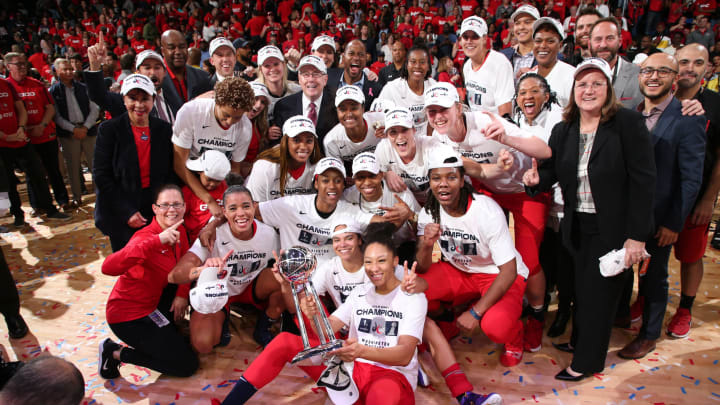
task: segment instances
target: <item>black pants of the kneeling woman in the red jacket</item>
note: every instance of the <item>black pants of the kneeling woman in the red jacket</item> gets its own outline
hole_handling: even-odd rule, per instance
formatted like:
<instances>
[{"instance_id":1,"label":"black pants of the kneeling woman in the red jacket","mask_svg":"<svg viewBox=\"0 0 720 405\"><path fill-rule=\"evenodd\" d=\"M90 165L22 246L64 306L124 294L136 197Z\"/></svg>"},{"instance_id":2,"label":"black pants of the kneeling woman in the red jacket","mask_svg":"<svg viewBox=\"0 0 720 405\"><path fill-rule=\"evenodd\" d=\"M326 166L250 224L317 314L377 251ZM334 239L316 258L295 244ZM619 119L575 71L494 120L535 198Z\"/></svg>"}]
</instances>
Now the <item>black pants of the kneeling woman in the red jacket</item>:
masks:
<instances>
[{"instance_id":1,"label":"black pants of the kneeling woman in the red jacket","mask_svg":"<svg viewBox=\"0 0 720 405\"><path fill-rule=\"evenodd\" d=\"M113 333L129 347L120 361L175 377L190 377L198 368L198 358L187 339L172 323L158 327L146 316L128 322L111 323Z\"/></svg>"}]
</instances>

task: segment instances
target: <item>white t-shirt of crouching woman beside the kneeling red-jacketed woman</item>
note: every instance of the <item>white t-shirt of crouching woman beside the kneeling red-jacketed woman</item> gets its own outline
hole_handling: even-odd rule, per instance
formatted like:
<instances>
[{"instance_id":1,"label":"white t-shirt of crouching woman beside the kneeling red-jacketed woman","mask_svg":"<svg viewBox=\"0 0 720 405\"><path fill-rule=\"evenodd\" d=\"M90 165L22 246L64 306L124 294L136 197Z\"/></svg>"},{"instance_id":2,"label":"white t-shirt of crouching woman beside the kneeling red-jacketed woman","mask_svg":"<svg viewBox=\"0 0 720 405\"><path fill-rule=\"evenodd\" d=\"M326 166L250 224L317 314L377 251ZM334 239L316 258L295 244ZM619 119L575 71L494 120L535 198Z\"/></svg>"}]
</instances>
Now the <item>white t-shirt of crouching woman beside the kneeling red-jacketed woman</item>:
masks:
<instances>
[{"instance_id":1,"label":"white t-shirt of crouching woman beside the kneeling red-jacketed woman","mask_svg":"<svg viewBox=\"0 0 720 405\"><path fill-rule=\"evenodd\" d=\"M208 257L225 257L230 250L233 253L225 270L230 274L227 286L232 297L242 294L263 269L271 266L271 261L275 261L273 250L280 252L280 240L274 229L260 221L255 221L255 235L250 240L234 237L230 225L225 223L217 228L212 254L200 244L200 239L190 248L202 262Z\"/></svg>"}]
</instances>

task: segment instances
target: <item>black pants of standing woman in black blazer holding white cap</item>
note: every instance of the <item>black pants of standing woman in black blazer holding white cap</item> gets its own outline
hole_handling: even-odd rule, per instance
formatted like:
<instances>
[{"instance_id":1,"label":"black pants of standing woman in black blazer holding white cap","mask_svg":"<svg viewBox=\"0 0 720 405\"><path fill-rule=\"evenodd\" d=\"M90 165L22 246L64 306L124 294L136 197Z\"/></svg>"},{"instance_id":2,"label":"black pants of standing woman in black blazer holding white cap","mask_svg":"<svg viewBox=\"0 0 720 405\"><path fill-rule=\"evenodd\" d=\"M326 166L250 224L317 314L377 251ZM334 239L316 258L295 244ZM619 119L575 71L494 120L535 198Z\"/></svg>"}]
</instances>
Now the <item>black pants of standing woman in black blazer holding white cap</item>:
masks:
<instances>
[{"instance_id":1,"label":"black pants of standing woman in black blazer holding white cap","mask_svg":"<svg viewBox=\"0 0 720 405\"><path fill-rule=\"evenodd\" d=\"M579 373L599 373L605 368L615 312L623 285L632 271L614 277L600 274L598 259L612 250L600 238L597 217L575 213L571 250L575 259L575 316L571 367Z\"/></svg>"}]
</instances>

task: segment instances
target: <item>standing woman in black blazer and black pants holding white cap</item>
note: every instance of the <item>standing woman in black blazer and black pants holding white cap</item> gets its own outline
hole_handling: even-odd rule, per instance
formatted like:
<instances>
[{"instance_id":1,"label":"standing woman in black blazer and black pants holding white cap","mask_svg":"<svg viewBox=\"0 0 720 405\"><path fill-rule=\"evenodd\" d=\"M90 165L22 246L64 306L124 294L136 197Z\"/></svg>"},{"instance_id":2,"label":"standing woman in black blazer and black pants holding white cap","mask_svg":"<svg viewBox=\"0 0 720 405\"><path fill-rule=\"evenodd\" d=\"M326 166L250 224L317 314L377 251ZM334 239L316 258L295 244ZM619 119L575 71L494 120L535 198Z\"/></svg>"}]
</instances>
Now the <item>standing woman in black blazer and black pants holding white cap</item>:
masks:
<instances>
[{"instance_id":1,"label":"standing woman in black blazer and black pants holding white cap","mask_svg":"<svg viewBox=\"0 0 720 405\"><path fill-rule=\"evenodd\" d=\"M565 201L563 243L575 262L576 311L570 343L572 363L555 378L579 381L605 367L622 287L642 261L652 236L655 160L643 117L615 98L610 67L590 58L575 71L573 93L563 121L552 131L552 157L525 173L531 193L558 182ZM625 268L600 274L598 259L625 248Z\"/></svg>"}]
</instances>

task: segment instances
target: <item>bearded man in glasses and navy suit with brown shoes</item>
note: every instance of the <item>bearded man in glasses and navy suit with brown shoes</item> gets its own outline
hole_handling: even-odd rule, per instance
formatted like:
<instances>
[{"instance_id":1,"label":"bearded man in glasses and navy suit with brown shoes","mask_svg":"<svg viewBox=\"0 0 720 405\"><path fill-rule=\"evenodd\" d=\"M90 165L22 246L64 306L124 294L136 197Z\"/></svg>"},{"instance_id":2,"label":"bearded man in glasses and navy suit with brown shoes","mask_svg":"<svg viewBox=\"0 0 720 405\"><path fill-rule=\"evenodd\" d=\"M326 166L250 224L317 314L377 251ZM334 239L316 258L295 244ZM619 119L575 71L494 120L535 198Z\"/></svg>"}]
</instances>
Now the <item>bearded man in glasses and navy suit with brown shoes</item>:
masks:
<instances>
[{"instance_id":1,"label":"bearded man in glasses and navy suit with brown shoes","mask_svg":"<svg viewBox=\"0 0 720 405\"><path fill-rule=\"evenodd\" d=\"M640 278L640 295L644 297L642 327L638 336L618 353L626 359L639 359L655 350L667 306L670 249L693 208L702 180L706 120L682 115L680 101L671 93L677 72L678 63L672 56L657 53L645 60L638 77L644 95L638 110L645 116L655 149L656 232L646 243L650 264Z\"/></svg>"}]
</instances>

